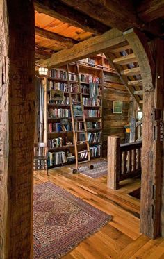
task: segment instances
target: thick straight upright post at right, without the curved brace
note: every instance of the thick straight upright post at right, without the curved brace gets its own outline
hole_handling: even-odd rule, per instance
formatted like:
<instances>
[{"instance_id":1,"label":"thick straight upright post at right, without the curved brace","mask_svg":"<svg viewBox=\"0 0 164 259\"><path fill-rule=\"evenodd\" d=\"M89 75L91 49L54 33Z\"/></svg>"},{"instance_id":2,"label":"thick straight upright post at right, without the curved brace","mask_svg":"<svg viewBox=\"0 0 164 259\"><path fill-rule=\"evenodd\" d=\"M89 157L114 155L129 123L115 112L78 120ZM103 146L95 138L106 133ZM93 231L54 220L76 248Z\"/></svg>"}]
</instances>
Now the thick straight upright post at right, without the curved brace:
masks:
<instances>
[{"instance_id":1,"label":"thick straight upright post at right, without the curved brace","mask_svg":"<svg viewBox=\"0 0 164 259\"><path fill-rule=\"evenodd\" d=\"M161 235L162 145L160 122L163 120L163 42L154 48L156 81L154 90L144 92L142 188L140 231L151 238Z\"/></svg>"}]
</instances>

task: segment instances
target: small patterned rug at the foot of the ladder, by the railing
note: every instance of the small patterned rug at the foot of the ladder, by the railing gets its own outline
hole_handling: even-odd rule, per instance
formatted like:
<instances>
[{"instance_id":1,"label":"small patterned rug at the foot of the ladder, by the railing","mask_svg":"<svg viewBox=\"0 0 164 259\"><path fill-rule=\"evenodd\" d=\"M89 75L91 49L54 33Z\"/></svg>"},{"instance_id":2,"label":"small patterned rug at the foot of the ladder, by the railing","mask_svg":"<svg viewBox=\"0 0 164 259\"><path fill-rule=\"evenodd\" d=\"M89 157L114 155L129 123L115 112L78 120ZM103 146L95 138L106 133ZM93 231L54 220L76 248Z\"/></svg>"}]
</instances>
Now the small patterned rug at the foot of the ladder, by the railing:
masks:
<instances>
[{"instance_id":1,"label":"small patterned rug at the foot of the ladder, by the railing","mask_svg":"<svg viewBox=\"0 0 164 259\"><path fill-rule=\"evenodd\" d=\"M91 178L99 178L107 174L107 161L100 160L99 162L91 162L91 165L94 166L92 170L85 165L79 168L79 173L84 174L85 176L89 176Z\"/></svg>"}]
</instances>

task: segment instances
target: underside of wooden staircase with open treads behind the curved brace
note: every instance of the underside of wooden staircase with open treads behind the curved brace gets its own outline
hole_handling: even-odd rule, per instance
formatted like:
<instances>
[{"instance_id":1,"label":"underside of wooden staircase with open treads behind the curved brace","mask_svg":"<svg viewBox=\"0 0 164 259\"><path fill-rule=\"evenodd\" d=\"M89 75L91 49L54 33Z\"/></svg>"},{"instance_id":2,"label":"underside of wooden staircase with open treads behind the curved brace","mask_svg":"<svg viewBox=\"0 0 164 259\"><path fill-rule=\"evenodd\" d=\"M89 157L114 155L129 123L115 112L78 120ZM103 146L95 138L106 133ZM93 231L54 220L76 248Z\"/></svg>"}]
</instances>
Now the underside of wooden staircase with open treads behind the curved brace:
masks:
<instances>
[{"instance_id":1,"label":"underside of wooden staircase with open treads behind the curved brace","mask_svg":"<svg viewBox=\"0 0 164 259\"><path fill-rule=\"evenodd\" d=\"M136 56L129 43L124 41L117 44L104 54L108 58L110 66L115 69L115 72L120 77L120 81L122 81L133 100L136 101L140 110L142 110L142 77Z\"/></svg>"}]
</instances>

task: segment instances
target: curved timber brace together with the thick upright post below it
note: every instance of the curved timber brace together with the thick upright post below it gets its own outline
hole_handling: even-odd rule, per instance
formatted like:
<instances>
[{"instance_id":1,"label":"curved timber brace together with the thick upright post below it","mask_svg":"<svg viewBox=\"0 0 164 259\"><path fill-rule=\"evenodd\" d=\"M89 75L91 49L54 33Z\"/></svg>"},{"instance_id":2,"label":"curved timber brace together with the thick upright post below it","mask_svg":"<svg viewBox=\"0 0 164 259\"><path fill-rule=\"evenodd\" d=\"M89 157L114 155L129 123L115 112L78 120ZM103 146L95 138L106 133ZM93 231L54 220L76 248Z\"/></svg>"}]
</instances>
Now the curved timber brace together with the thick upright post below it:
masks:
<instances>
[{"instance_id":1,"label":"curved timber brace together with the thick upright post below it","mask_svg":"<svg viewBox=\"0 0 164 259\"><path fill-rule=\"evenodd\" d=\"M161 62L163 67L163 49L160 47L160 54L158 45L156 45L154 53L158 52L158 55L152 57L145 35L136 29L126 31L124 37L131 45L131 49L133 49L133 53L138 60L143 83L140 232L155 238L161 234L162 144L159 132L162 110L160 110L159 103L161 102L160 96L162 93L159 93L163 87L163 84L157 79L156 67L158 67L158 62ZM156 64L154 60L156 60Z\"/></svg>"}]
</instances>

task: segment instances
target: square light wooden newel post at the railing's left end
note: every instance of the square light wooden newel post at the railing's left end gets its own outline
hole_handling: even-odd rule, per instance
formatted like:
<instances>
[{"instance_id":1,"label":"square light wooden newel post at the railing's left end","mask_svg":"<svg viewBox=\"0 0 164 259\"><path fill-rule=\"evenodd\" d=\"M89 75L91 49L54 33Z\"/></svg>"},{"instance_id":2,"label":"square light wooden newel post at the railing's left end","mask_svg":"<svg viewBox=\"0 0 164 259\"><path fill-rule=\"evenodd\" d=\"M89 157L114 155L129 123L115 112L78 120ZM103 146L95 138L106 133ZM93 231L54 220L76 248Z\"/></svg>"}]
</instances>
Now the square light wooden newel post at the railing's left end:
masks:
<instances>
[{"instance_id":1,"label":"square light wooden newel post at the railing's left end","mask_svg":"<svg viewBox=\"0 0 164 259\"><path fill-rule=\"evenodd\" d=\"M112 190L119 187L120 178L120 137L108 137L108 180L107 186Z\"/></svg>"}]
</instances>

